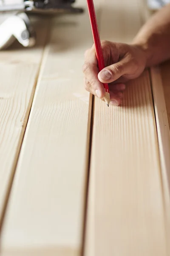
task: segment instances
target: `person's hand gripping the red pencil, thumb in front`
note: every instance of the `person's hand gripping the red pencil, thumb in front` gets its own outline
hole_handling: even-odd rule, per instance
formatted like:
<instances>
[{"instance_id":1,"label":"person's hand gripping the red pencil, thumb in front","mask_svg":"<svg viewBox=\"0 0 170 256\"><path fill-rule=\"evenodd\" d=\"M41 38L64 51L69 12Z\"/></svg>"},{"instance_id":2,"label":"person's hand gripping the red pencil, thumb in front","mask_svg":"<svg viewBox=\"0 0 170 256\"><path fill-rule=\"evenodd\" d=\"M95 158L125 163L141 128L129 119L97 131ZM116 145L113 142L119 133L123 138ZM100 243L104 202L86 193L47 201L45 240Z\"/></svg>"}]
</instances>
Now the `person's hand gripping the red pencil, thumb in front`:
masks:
<instances>
[{"instance_id":1,"label":"person's hand gripping the red pencil, thumb in front","mask_svg":"<svg viewBox=\"0 0 170 256\"><path fill-rule=\"evenodd\" d=\"M138 77L146 66L146 54L142 47L101 41L105 68L99 72L95 47L85 52L83 72L85 89L102 99L109 83L111 104L120 105L125 90L125 81Z\"/></svg>"}]
</instances>

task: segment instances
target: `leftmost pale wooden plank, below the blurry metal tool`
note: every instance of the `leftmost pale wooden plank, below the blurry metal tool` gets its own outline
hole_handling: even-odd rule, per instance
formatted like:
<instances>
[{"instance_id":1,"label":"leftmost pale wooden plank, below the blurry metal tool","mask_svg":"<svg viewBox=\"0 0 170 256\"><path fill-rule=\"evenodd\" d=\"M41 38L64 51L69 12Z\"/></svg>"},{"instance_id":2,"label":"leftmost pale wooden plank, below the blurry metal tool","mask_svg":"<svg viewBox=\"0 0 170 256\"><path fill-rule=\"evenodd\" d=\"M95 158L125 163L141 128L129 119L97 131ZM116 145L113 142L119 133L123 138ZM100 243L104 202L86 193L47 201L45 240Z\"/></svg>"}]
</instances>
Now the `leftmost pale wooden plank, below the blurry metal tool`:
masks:
<instances>
[{"instance_id":1,"label":"leftmost pale wooden plank, below the blurry metal tool","mask_svg":"<svg viewBox=\"0 0 170 256\"><path fill-rule=\"evenodd\" d=\"M7 17L1 15L0 22ZM23 49L16 42L0 52L0 226L34 96L47 33L45 24L43 20L35 24L34 48Z\"/></svg>"}]
</instances>

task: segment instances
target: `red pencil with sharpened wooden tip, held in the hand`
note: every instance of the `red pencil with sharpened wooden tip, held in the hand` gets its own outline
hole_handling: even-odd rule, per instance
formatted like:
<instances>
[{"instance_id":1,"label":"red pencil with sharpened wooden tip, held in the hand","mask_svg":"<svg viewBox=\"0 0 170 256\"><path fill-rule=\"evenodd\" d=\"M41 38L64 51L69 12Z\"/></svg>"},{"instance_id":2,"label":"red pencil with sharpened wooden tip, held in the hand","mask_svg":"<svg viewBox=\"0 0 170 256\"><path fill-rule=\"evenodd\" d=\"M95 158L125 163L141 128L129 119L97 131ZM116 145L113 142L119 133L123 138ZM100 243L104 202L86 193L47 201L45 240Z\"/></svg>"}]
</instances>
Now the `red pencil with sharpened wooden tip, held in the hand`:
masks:
<instances>
[{"instance_id":1,"label":"red pencil with sharpened wooden tip, held in the hand","mask_svg":"<svg viewBox=\"0 0 170 256\"><path fill-rule=\"evenodd\" d=\"M100 42L99 29L97 26L93 0L87 0L87 5L88 5L88 13L91 21L91 29L92 29L93 38L94 38L94 45L96 49L98 67L99 67L99 71L101 71L105 67L105 62L104 62L103 53L102 53L102 46ZM108 87L108 84L103 84L103 86L105 87L105 91L106 91L104 99L106 104L109 106L109 102L110 102L109 87Z\"/></svg>"}]
</instances>

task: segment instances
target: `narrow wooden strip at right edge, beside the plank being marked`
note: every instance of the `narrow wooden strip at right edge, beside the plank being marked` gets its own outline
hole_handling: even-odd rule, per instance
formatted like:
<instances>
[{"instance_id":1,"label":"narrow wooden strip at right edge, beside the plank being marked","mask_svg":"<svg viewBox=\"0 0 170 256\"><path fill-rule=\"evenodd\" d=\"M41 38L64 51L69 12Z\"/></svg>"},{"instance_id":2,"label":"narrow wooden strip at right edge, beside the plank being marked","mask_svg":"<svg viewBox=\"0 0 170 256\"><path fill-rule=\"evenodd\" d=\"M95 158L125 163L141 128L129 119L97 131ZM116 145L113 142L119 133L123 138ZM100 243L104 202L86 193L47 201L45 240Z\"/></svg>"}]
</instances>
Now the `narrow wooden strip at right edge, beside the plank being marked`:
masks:
<instances>
[{"instance_id":1,"label":"narrow wooden strip at right edge, beside the plank being marked","mask_svg":"<svg viewBox=\"0 0 170 256\"><path fill-rule=\"evenodd\" d=\"M170 129L167 119L161 70L159 67L151 68L151 79L161 160L161 180L164 195L164 209L166 214L166 233L167 241L170 241ZM170 255L169 243L168 250L168 255Z\"/></svg>"}]
</instances>

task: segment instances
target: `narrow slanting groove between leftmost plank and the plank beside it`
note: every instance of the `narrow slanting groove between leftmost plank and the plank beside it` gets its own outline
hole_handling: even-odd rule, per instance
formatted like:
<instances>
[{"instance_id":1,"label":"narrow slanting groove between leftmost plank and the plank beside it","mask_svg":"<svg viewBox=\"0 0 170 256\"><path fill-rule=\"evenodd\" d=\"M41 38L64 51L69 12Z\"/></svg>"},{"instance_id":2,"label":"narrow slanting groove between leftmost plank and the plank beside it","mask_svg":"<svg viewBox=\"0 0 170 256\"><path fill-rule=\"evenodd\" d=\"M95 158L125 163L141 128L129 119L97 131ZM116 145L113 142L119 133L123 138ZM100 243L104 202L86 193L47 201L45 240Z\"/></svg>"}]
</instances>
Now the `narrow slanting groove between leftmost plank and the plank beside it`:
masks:
<instances>
[{"instance_id":1,"label":"narrow slanting groove between leftmost plank and the plank beside it","mask_svg":"<svg viewBox=\"0 0 170 256\"><path fill-rule=\"evenodd\" d=\"M17 145L17 151L16 151L16 154L15 154L15 159L14 159L14 162L13 162L13 165L12 165L12 168L11 168L11 176L10 176L10 179L8 181L8 188L7 188L7 191L6 191L4 205L3 205L2 213L1 213L1 216L0 216L0 234L1 234L1 231L2 231L2 228L3 228L3 220L5 218L6 209L7 209L7 206L8 206L8 199L9 199L9 196L10 196L15 171L17 169L17 163L18 163L18 159L19 159L19 156L20 156L20 150L21 150L21 147L22 147L24 135L25 135L25 132L26 132L26 127L27 127L27 124L28 124L28 119L29 119L29 115L30 115L30 112L31 112L32 103L33 103L33 100L34 100L34 95L35 95L35 90L36 90L36 87L37 87L37 82L39 80L40 71L42 69L43 58L44 58L44 55L45 55L45 45L48 43L48 40L49 40L50 29L48 30L48 27L50 26L50 20L46 19L46 21L48 22L47 27L45 29L46 30L45 31L45 38L46 39L45 39L44 44L42 46L42 48L43 48L42 57L41 57L41 60L40 60L39 68L37 70L37 75L36 75L36 78L35 78L35 81L34 81L31 96L30 96L30 99L29 99L29 103L28 103L28 107L27 107L27 111L26 111L26 116L24 117L23 128L21 130L19 142L18 142L18 145Z\"/></svg>"}]
</instances>

